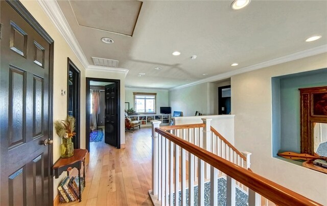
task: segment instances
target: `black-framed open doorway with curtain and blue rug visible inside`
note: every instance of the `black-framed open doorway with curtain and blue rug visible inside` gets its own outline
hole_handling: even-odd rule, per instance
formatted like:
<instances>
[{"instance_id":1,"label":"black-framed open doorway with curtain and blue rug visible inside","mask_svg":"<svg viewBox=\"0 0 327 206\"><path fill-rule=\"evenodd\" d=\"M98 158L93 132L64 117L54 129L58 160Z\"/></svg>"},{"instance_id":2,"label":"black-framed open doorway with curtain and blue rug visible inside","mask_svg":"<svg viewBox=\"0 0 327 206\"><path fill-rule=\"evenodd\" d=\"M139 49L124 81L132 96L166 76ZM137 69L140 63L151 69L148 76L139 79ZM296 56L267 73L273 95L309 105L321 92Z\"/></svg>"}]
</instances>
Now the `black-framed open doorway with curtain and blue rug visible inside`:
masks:
<instances>
[{"instance_id":1,"label":"black-framed open doorway with curtain and blue rug visible inside","mask_svg":"<svg viewBox=\"0 0 327 206\"><path fill-rule=\"evenodd\" d=\"M90 142L120 148L120 80L86 78L86 149Z\"/></svg>"}]
</instances>

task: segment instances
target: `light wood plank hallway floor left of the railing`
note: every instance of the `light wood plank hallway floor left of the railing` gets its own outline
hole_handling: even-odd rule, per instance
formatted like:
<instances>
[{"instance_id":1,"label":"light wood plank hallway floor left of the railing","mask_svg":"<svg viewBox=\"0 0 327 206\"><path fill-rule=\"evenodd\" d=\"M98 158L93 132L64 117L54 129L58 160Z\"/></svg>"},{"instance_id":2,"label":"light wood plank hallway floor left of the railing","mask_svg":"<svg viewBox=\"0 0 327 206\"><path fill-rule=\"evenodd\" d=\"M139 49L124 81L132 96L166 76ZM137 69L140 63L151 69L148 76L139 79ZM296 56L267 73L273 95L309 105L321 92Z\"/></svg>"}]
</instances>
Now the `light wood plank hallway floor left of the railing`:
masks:
<instances>
[{"instance_id":1,"label":"light wood plank hallway floor left of the railing","mask_svg":"<svg viewBox=\"0 0 327 206\"><path fill-rule=\"evenodd\" d=\"M125 133L124 149L91 142L82 202L65 205L153 205L151 141L151 127L143 127Z\"/></svg>"}]
</instances>

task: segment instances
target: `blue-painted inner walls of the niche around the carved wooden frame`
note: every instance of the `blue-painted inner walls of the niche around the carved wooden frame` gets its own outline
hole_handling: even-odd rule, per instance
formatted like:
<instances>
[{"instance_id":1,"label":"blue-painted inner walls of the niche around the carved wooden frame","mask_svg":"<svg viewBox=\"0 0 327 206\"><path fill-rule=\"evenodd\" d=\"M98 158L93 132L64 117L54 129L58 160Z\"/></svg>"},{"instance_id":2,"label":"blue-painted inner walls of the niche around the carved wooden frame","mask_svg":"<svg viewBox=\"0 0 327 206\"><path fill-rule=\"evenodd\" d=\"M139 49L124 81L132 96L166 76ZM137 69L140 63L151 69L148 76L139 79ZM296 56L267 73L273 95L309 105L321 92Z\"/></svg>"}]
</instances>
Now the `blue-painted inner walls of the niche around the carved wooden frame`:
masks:
<instances>
[{"instance_id":1,"label":"blue-painted inner walls of the niche around the carved wooden frame","mask_svg":"<svg viewBox=\"0 0 327 206\"><path fill-rule=\"evenodd\" d=\"M272 78L272 156L300 152L299 88L327 86L327 68Z\"/></svg>"}]
</instances>

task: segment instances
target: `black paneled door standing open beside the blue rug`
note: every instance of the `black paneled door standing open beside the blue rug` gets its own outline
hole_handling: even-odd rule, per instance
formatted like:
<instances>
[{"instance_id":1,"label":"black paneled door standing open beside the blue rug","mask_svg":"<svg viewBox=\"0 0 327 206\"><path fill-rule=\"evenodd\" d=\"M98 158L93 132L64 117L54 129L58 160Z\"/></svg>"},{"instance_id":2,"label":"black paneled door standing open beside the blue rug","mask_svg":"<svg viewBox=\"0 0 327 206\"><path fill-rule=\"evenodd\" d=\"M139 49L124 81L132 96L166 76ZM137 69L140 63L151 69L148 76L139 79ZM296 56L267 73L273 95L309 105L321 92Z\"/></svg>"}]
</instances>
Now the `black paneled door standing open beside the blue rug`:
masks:
<instances>
[{"instance_id":1,"label":"black paneled door standing open beside the blue rug","mask_svg":"<svg viewBox=\"0 0 327 206\"><path fill-rule=\"evenodd\" d=\"M118 128L118 91L117 83L105 86L105 138L104 142L120 148Z\"/></svg>"}]
</instances>

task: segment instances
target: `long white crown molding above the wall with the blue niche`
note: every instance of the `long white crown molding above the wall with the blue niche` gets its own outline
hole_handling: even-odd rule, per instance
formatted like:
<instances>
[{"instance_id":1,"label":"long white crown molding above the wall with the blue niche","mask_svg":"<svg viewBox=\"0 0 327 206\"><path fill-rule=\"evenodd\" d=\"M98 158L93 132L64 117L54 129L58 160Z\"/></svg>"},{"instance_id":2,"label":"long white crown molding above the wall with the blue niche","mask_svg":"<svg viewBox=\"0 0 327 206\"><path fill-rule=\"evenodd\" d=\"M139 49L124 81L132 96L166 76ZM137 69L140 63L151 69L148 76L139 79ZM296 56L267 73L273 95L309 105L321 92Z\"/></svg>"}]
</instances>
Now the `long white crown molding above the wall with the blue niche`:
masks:
<instances>
[{"instance_id":1,"label":"long white crown molding above the wall with the blue niche","mask_svg":"<svg viewBox=\"0 0 327 206\"><path fill-rule=\"evenodd\" d=\"M240 69L237 69L237 70L221 73L221 74L211 76L209 78L205 78L205 79L195 81L195 82L192 82L192 83L189 83L189 84L177 86L177 87L169 89L169 91L173 91L173 90L177 90L177 89L181 89L181 88L185 88L185 87L190 87L190 86L194 86L194 85L198 85L198 84L202 84L202 83L214 82L214 81L217 81L217 80L230 78L231 76L236 75L236 74L241 74L241 73L245 73L245 72L248 72L248 71L253 71L253 70L256 70L256 69L262 69L262 68L265 68L265 67L269 67L269 66L273 66L273 65L277 65L277 64L282 64L282 63L286 63L286 62L290 62L290 61L294 61L294 60L302 59L302 58L306 58L306 57L311 57L311 56L319 55L319 54L322 54L322 53L327 53L327 44L317 46L317 47L314 47L314 48L310 48L310 49L307 49L307 50L299 51L297 53L287 55L287 56L284 56L284 57L279 57L279 58L276 58L276 59L268 60L268 61L261 62L261 63L258 63L258 64L254 64L254 65L251 65L251 66L243 67L243 68L240 68Z\"/></svg>"}]
</instances>

